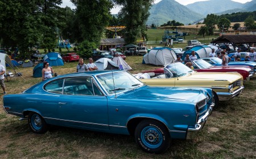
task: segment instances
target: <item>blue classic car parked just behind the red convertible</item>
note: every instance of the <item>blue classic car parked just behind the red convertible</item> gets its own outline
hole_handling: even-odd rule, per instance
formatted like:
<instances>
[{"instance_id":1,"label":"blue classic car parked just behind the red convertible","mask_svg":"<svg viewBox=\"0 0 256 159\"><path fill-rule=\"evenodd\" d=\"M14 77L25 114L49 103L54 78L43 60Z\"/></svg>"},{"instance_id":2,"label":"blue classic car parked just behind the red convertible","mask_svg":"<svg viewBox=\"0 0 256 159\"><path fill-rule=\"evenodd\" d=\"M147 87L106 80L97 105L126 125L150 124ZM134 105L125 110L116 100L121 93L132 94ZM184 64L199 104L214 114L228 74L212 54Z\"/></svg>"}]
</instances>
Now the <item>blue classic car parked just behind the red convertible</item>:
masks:
<instances>
[{"instance_id":1,"label":"blue classic car parked just behind the red convertible","mask_svg":"<svg viewBox=\"0 0 256 159\"><path fill-rule=\"evenodd\" d=\"M212 64L214 66L221 66L222 60L218 57L208 57L208 58L201 58L204 61L207 61L209 64ZM242 61L242 62L234 62L234 61L230 61L229 65L237 65L237 66L250 66L251 68L253 68L254 72L256 72L256 63L255 62L246 62L246 61Z\"/></svg>"}]
</instances>

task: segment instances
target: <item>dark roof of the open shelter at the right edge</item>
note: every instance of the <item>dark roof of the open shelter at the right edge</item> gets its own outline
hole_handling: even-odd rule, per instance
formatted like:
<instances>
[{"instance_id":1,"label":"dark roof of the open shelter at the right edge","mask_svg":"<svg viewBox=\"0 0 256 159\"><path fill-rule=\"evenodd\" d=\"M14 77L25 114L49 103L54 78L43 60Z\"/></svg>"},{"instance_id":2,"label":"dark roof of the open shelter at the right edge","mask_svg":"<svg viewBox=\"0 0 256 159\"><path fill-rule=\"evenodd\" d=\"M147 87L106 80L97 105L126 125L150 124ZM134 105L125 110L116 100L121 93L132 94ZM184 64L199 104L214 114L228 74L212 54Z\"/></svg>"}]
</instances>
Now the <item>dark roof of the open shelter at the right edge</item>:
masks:
<instances>
[{"instance_id":1,"label":"dark roof of the open shelter at the right edge","mask_svg":"<svg viewBox=\"0 0 256 159\"><path fill-rule=\"evenodd\" d=\"M256 43L256 35L222 35L210 43Z\"/></svg>"}]
</instances>

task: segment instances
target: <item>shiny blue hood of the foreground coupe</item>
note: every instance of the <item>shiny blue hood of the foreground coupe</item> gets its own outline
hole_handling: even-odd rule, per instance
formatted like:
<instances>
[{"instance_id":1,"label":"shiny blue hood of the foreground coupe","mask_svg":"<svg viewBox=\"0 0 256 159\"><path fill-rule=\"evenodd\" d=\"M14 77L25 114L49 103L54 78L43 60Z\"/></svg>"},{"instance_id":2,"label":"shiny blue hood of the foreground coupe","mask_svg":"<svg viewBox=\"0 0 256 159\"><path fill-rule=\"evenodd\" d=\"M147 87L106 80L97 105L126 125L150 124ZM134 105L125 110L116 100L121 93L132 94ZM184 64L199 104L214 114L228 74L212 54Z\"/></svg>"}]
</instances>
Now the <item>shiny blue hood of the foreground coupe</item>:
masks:
<instances>
[{"instance_id":1,"label":"shiny blue hood of the foreground coupe","mask_svg":"<svg viewBox=\"0 0 256 159\"><path fill-rule=\"evenodd\" d=\"M151 100L174 100L196 103L206 98L206 91L201 88L184 87L150 87L135 89L132 93L121 94L117 98L123 99L151 99Z\"/></svg>"}]
</instances>

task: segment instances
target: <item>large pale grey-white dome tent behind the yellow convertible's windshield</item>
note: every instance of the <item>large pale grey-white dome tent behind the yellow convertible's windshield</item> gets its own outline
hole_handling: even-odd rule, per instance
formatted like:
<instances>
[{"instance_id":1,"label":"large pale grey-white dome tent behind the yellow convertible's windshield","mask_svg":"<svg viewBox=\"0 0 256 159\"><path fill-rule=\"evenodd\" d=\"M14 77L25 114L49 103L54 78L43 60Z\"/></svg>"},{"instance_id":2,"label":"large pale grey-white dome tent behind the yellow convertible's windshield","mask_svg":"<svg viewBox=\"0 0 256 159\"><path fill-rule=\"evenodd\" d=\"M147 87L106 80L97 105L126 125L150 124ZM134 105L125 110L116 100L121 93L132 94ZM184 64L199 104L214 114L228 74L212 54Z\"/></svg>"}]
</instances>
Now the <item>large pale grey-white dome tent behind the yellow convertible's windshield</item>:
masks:
<instances>
[{"instance_id":1,"label":"large pale grey-white dome tent behind the yellow convertible's windshield","mask_svg":"<svg viewBox=\"0 0 256 159\"><path fill-rule=\"evenodd\" d=\"M145 64L161 66L170 64L176 59L177 56L171 48L153 48L143 57Z\"/></svg>"}]
</instances>

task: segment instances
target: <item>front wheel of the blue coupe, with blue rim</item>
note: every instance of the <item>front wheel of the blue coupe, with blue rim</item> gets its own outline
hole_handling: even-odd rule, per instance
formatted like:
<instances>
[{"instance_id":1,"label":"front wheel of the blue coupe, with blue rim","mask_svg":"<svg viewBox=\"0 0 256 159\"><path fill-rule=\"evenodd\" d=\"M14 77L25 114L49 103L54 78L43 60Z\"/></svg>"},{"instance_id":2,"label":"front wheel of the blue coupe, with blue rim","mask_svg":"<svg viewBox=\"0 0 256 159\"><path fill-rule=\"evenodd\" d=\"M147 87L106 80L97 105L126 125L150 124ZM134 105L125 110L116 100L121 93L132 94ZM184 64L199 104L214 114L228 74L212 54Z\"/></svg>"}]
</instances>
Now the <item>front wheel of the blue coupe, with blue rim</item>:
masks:
<instances>
[{"instance_id":1,"label":"front wheel of the blue coupe, with blue rim","mask_svg":"<svg viewBox=\"0 0 256 159\"><path fill-rule=\"evenodd\" d=\"M155 120L143 120L135 129L136 143L144 152L162 153L171 142L170 134L164 124Z\"/></svg>"}]
</instances>

